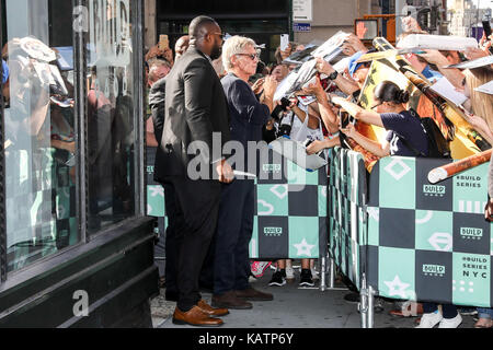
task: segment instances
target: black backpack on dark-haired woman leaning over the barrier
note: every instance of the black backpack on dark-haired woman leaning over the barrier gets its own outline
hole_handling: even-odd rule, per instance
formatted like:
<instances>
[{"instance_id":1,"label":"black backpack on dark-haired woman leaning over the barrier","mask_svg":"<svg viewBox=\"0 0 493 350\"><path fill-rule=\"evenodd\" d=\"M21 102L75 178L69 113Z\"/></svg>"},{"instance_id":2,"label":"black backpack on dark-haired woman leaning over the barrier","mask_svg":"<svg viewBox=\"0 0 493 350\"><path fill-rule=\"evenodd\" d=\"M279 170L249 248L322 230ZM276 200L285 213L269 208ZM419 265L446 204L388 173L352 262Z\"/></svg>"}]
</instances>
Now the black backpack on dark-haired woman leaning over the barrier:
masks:
<instances>
[{"instance_id":1,"label":"black backpack on dark-haired woman leaning over the barrier","mask_svg":"<svg viewBox=\"0 0 493 350\"><path fill-rule=\"evenodd\" d=\"M425 155L421 151L416 150L408 140L399 135L399 138L402 140L402 142L410 150L412 150L416 154L416 156L451 159L450 144L444 138L444 135L436 125L435 120L433 120L433 118L431 117L421 118L412 108L409 109L409 113L420 120L423 130L426 133L426 139L428 140L428 155Z\"/></svg>"}]
</instances>

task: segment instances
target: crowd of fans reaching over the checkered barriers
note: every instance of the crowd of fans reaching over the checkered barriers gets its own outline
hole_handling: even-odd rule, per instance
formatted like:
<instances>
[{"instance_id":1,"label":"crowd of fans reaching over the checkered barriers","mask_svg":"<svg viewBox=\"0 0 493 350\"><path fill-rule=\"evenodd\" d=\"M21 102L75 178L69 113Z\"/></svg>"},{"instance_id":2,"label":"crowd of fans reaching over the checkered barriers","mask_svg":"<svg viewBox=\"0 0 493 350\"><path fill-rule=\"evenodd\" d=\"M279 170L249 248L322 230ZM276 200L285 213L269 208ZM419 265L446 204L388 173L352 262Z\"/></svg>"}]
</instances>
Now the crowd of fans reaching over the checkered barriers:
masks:
<instances>
[{"instance_id":1,"label":"crowd of fans reaching over the checkered barriers","mask_svg":"<svg viewBox=\"0 0 493 350\"><path fill-rule=\"evenodd\" d=\"M403 23L408 31L398 38L398 47L399 39L406 35L426 34L412 18L404 19ZM426 49L422 52L403 54L403 57L416 72L425 77L431 83L446 78L457 91L463 93L468 97L463 104L468 121L484 140L493 144L493 116L491 114L493 98L489 94L474 90L493 79L492 67L484 66L465 70L444 68L444 66L491 55L489 50L491 39L491 37L483 36L479 48L474 49L463 51ZM187 43L187 36L176 42L174 58L170 48L159 49L158 47L151 48L146 56L151 105L163 102L162 98L159 98L160 90L163 93L162 85L159 82L165 79L174 62L186 50ZM370 68L370 62L359 62L358 59L372 49L365 46L356 35L349 34L342 46L343 54L347 57L346 66L339 66L339 70L336 70L328 61L318 58L316 65L318 74L314 82L300 89L288 103L283 104L282 101L274 101L273 106L277 106L276 108L268 105L270 102L268 98L265 100L265 93L268 91L272 98L273 89L275 91L275 88L297 67L297 65L286 62L286 59L296 51L302 51L305 46L291 42L286 49L283 50L280 47L276 49L275 61L262 62L259 58L260 48L255 43L251 46L248 46L250 44L245 45L244 47L252 48L253 54L236 55L250 56L245 59L251 59L251 62L256 65L256 69L248 77L248 82L259 102L270 107L271 117L262 126L262 138L266 142L271 142L280 136L288 136L297 141L308 139L308 154L321 153L334 145L351 147L355 150L363 149L377 158L387 155L428 156L431 154L426 131L420 122L420 117L426 116L419 115L416 110L409 107L409 92L392 82L392 77L375 88L374 101L376 103L370 106L371 108L365 109L358 105L359 95L365 86ZM256 54L254 54L255 51ZM226 67L225 69L222 65L225 61L227 61L225 58L211 61L218 77L222 79L228 75L228 70L231 68ZM311 95L316 100L305 106L296 95ZM344 110L349 112L353 116L347 124L342 124L341 120ZM378 142L362 135L358 129L359 121L376 125L387 130L385 141ZM159 145L160 135L153 137L151 118L149 118L147 126L148 145ZM275 268L270 285L280 287L286 283L286 280L295 279L293 261L290 260L252 261L251 275L254 278L261 278L268 266ZM317 271L313 260L302 259L300 285L314 285L314 279L317 279ZM356 300L357 298L356 295ZM378 300L376 307L379 307ZM434 303L423 303L419 305L417 310L422 311L417 326L420 328L432 328L437 324L439 327L455 328L462 322L460 310L458 311L454 305L438 307ZM479 319L475 327L491 328L493 326L492 316L491 308L478 308Z\"/></svg>"}]
</instances>

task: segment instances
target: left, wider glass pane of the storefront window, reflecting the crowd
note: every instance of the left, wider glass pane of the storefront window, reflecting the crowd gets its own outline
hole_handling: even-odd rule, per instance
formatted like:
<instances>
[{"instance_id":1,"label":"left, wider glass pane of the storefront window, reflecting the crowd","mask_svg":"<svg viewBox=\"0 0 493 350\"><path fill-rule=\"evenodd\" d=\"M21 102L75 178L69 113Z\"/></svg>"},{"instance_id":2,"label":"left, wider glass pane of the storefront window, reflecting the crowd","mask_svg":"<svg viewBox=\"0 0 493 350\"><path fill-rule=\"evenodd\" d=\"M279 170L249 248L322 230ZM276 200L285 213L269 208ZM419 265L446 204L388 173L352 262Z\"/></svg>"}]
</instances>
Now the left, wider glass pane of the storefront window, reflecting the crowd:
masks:
<instances>
[{"instance_id":1,"label":"left, wider glass pane of the storefront window, reflecting the crowd","mask_svg":"<svg viewBox=\"0 0 493 350\"><path fill-rule=\"evenodd\" d=\"M9 71L2 89L8 271L80 242L73 75L61 67L56 49L61 43L53 35L71 26L49 21L59 3L2 3L2 59ZM65 8L64 16L71 18L71 8Z\"/></svg>"}]
</instances>

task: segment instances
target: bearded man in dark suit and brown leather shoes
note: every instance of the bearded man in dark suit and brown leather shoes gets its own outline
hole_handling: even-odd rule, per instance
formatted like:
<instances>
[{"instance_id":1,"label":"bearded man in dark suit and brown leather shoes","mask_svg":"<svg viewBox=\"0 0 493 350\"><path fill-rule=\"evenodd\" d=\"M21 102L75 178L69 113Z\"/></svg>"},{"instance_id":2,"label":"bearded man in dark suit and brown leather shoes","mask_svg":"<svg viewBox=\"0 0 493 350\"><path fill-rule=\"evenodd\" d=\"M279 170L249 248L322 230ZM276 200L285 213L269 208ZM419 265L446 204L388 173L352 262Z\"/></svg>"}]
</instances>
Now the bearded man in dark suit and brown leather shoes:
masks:
<instances>
[{"instance_id":1,"label":"bearded man in dark suit and brown leather shoes","mask_svg":"<svg viewBox=\"0 0 493 350\"><path fill-rule=\"evenodd\" d=\"M154 171L157 180L173 186L176 205L179 300L173 323L220 326L222 320L211 316L228 310L213 308L202 300L198 278L216 230L220 183L232 180L232 170L221 154L230 139L228 106L210 65L220 56L222 34L216 21L198 16L191 22L188 35L188 50L167 77Z\"/></svg>"}]
</instances>

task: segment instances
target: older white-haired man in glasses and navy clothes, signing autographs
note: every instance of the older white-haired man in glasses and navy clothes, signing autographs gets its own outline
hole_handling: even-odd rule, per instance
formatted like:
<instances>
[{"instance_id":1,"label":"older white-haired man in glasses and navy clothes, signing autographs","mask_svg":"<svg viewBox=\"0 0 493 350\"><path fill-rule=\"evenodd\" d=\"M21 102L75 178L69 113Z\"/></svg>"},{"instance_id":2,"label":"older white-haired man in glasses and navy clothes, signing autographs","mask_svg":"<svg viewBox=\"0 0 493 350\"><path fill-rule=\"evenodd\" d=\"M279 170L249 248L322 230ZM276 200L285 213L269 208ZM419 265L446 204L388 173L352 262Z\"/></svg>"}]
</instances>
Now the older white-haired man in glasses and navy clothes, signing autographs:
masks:
<instances>
[{"instance_id":1,"label":"older white-haired man in glasses and navy clothes, signing autographs","mask_svg":"<svg viewBox=\"0 0 493 350\"><path fill-rule=\"evenodd\" d=\"M244 162L249 159L248 142L262 140L262 127L274 108L277 81L266 77L261 101L248 81L256 71L259 54L255 42L242 36L228 38L222 46L222 62L227 74L221 79L230 113L231 140L243 145ZM254 154L251 154L254 155ZM240 164L233 166L239 171ZM254 183L251 178L236 178L221 185L221 200L216 230L214 262L215 307L252 308L248 301L268 301L273 295L249 284L249 243L253 230Z\"/></svg>"}]
</instances>

